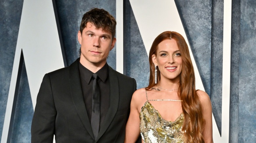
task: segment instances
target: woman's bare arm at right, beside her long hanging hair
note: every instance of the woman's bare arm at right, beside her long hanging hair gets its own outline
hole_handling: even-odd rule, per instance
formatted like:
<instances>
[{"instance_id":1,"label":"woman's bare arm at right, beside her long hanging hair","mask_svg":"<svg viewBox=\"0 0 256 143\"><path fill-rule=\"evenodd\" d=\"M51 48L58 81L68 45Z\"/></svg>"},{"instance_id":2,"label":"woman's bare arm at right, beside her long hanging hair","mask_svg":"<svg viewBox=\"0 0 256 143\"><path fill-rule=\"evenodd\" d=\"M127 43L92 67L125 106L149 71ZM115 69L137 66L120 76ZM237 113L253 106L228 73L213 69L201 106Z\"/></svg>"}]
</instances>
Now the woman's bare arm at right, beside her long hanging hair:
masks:
<instances>
[{"instance_id":1,"label":"woman's bare arm at right, beside her long hanging hair","mask_svg":"<svg viewBox=\"0 0 256 143\"><path fill-rule=\"evenodd\" d=\"M213 143L212 138L212 105L209 95L202 91L198 90L197 94L199 95L202 110L203 110L203 118L205 119L205 126L203 131L203 138L205 143Z\"/></svg>"}]
</instances>

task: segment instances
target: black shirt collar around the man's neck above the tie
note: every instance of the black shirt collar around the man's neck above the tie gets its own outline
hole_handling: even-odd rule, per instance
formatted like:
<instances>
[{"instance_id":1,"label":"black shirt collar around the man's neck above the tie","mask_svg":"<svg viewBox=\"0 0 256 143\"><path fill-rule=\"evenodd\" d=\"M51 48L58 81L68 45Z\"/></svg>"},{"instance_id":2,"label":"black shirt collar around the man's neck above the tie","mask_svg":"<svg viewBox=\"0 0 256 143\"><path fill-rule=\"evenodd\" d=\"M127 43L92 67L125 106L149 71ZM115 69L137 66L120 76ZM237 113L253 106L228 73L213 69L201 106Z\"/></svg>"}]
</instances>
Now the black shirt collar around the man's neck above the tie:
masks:
<instances>
[{"instance_id":1,"label":"black shirt collar around the man's neck above the tie","mask_svg":"<svg viewBox=\"0 0 256 143\"><path fill-rule=\"evenodd\" d=\"M84 67L80 62L78 64L80 76L87 84L89 84L93 72L88 70L86 67ZM100 70L96 72L96 74L99 76L99 78L105 82L108 77L108 64L106 63Z\"/></svg>"}]
</instances>

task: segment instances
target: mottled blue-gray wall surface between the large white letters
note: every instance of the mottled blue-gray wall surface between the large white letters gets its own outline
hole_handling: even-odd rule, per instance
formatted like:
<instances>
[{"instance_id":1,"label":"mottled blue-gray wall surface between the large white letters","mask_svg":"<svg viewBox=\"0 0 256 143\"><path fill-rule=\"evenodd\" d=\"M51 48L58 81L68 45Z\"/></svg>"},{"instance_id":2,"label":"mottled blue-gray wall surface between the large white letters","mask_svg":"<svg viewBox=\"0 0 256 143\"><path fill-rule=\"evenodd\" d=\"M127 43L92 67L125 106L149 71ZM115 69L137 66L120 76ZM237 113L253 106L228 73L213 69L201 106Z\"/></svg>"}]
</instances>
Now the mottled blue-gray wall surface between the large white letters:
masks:
<instances>
[{"instance_id":1,"label":"mottled blue-gray wall surface between the large white letters","mask_svg":"<svg viewBox=\"0 0 256 143\"><path fill-rule=\"evenodd\" d=\"M223 0L175 0L193 56L209 94L213 115L221 132ZM23 0L0 1L0 136L2 135L11 72L19 32ZM149 63L145 46L129 0L124 0L124 73L134 77L138 88L148 84ZM77 31L82 14L90 8L104 8L116 17L116 0L56 1L66 65L79 56ZM232 1L231 83L229 142L256 140L256 1ZM153 18L152 18L153 20ZM22 61L22 60L21 60ZM116 50L108 63L116 69ZM10 142L30 142L33 107L26 65L22 61L17 79Z\"/></svg>"}]
</instances>

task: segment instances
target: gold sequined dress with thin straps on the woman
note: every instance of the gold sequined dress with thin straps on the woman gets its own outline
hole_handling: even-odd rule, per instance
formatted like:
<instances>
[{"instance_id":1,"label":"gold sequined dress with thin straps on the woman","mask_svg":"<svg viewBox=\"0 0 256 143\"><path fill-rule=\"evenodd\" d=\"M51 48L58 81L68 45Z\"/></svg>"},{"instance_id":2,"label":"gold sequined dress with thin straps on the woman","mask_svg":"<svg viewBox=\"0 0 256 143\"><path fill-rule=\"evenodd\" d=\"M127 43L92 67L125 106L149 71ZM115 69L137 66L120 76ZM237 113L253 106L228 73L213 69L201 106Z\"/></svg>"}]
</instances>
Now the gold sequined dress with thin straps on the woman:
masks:
<instances>
[{"instance_id":1,"label":"gold sequined dress with thin straps on the woman","mask_svg":"<svg viewBox=\"0 0 256 143\"><path fill-rule=\"evenodd\" d=\"M184 122L183 113L173 122L164 120L149 101L162 100L148 100L147 97L147 101L141 108L139 127L144 143L184 143L181 131Z\"/></svg>"}]
</instances>

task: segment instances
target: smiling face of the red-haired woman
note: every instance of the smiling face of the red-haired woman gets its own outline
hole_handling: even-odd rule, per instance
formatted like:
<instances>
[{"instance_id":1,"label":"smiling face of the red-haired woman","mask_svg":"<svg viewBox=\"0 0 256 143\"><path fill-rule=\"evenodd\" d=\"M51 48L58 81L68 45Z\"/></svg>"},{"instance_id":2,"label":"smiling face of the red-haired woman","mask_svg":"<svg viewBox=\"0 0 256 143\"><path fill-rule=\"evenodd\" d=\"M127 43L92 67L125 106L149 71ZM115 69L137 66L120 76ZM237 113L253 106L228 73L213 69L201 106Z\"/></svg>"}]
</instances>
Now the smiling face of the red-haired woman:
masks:
<instances>
[{"instance_id":1,"label":"smiling face of the red-haired woman","mask_svg":"<svg viewBox=\"0 0 256 143\"><path fill-rule=\"evenodd\" d=\"M163 40L158 45L157 56L152 56L153 63L158 66L161 80L178 80L182 69L182 58L176 40Z\"/></svg>"}]
</instances>

